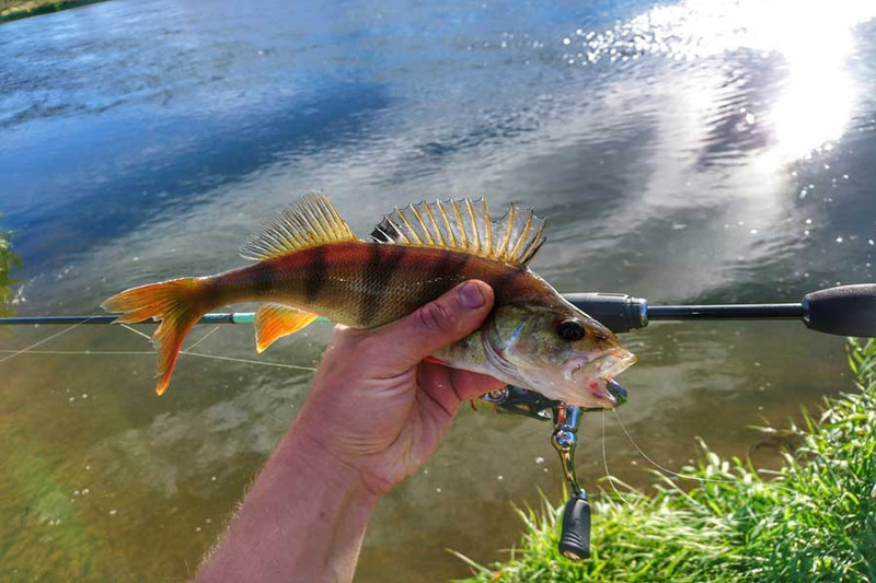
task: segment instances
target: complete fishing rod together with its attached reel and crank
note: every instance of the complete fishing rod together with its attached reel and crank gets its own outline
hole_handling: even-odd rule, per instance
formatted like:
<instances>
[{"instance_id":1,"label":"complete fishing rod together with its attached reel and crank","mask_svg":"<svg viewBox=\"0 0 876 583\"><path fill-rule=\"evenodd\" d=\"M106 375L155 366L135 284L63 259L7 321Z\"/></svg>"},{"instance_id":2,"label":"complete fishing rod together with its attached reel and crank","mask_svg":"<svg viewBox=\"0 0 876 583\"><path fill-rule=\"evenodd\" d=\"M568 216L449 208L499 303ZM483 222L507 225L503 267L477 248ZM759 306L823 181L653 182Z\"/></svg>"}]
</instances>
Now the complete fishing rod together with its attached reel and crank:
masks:
<instances>
[{"instance_id":1,"label":"complete fishing rod together with its attached reel and crank","mask_svg":"<svg viewBox=\"0 0 876 583\"><path fill-rule=\"evenodd\" d=\"M641 298L623 293L570 293L564 298L614 333L644 328L653 320L798 319L807 328L840 336L876 337L876 283L841 285L807 293L798 303L648 305ZM116 316L18 316L0 318L0 325L111 324ZM328 322L327 318L320 318ZM252 324L255 314L235 312L207 314L199 324ZM140 323L148 324L150 320ZM607 389L618 405L626 390L611 381ZM551 400L525 388L506 386L482 397L500 410L551 420L551 444L560 455L563 476L572 489L561 525L560 552L572 560L590 556L590 502L575 471L578 429L587 409Z\"/></svg>"}]
</instances>

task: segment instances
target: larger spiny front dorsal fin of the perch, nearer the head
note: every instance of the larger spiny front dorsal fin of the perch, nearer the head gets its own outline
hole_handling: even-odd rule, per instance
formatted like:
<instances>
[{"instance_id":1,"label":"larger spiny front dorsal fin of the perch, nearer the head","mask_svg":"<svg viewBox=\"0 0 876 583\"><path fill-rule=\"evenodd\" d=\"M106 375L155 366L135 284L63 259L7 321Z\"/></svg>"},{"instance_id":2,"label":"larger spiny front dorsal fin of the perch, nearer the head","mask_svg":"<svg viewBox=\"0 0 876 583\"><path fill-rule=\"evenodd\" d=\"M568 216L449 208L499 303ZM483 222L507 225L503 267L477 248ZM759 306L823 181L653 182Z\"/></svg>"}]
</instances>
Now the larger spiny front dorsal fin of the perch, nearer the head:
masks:
<instances>
[{"instance_id":1,"label":"larger spiny front dorsal fin of the perch, nearer the head","mask_svg":"<svg viewBox=\"0 0 876 583\"><path fill-rule=\"evenodd\" d=\"M374 228L371 238L417 247L473 253L510 265L526 265L544 243L544 219L528 207L511 205L491 222L486 201L419 202L395 209Z\"/></svg>"}]
</instances>

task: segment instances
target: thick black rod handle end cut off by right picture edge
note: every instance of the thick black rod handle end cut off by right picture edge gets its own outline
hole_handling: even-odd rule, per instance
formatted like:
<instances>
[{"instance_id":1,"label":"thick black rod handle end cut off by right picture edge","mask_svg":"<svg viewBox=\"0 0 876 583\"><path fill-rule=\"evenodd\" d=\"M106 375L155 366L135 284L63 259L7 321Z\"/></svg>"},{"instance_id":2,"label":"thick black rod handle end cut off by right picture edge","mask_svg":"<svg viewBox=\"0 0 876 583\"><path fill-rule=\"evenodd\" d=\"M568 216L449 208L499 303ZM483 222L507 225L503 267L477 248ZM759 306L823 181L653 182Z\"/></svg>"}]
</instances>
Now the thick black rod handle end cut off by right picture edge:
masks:
<instances>
[{"instance_id":1,"label":"thick black rod handle end cut off by right picture edge","mask_svg":"<svg viewBox=\"0 0 876 583\"><path fill-rule=\"evenodd\" d=\"M876 283L807 293L803 298L803 322L822 333L876 337Z\"/></svg>"}]
</instances>

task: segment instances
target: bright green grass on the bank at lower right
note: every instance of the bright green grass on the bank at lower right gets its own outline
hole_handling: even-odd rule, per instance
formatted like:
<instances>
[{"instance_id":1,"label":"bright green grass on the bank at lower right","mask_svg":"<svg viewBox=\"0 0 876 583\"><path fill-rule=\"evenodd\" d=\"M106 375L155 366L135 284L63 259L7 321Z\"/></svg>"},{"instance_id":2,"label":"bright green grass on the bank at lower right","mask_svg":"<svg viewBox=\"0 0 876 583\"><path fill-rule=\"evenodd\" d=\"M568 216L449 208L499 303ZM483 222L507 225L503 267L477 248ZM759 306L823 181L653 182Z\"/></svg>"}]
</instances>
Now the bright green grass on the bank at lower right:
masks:
<instances>
[{"instance_id":1,"label":"bright green grass on the bank at lower right","mask_svg":"<svg viewBox=\"0 0 876 583\"><path fill-rule=\"evenodd\" d=\"M876 340L850 341L857 390L826 399L793 435L777 473L723 459L703 444L693 490L659 477L655 493L627 488L593 501L592 557L556 551L563 508L518 510L520 548L481 565L474 582L876 581ZM627 503L629 502L629 503Z\"/></svg>"}]
</instances>

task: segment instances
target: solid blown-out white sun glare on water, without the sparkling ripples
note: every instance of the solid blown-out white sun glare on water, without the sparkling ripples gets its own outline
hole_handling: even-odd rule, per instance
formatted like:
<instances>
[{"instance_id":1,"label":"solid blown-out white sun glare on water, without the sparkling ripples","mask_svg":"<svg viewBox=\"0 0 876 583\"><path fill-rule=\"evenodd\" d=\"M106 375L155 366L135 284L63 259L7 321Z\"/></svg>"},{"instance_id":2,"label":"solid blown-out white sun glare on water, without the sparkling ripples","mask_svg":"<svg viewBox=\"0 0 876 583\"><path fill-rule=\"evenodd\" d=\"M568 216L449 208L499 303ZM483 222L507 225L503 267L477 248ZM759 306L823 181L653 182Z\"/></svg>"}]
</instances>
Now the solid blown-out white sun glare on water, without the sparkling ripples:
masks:
<instances>
[{"instance_id":1,"label":"solid blown-out white sun glare on water, without the sparkling ripples","mask_svg":"<svg viewBox=\"0 0 876 583\"><path fill-rule=\"evenodd\" d=\"M768 158L795 160L842 135L856 93L846 68L853 28L876 16L876 2L689 0L684 10L683 27L689 38L699 39L693 43L698 56L749 48L785 59L787 78L762 120L773 132Z\"/></svg>"}]
</instances>

